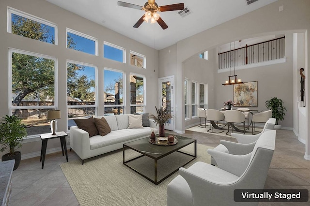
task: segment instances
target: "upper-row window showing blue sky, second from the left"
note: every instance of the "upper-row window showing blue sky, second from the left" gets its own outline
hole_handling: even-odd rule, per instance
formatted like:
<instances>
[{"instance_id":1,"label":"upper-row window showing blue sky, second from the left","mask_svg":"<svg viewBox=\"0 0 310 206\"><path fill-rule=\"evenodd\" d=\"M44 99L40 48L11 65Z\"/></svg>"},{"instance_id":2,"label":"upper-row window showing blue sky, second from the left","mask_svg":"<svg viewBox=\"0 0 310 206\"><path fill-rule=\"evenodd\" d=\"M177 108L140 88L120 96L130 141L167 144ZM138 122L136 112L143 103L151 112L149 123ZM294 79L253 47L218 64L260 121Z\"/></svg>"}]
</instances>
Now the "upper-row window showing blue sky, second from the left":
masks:
<instances>
[{"instance_id":1,"label":"upper-row window showing blue sky, second from the left","mask_svg":"<svg viewBox=\"0 0 310 206\"><path fill-rule=\"evenodd\" d=\"M67 48L98 55L97 39L72 29L66 29Z\"/></svg>"}]
</instances>

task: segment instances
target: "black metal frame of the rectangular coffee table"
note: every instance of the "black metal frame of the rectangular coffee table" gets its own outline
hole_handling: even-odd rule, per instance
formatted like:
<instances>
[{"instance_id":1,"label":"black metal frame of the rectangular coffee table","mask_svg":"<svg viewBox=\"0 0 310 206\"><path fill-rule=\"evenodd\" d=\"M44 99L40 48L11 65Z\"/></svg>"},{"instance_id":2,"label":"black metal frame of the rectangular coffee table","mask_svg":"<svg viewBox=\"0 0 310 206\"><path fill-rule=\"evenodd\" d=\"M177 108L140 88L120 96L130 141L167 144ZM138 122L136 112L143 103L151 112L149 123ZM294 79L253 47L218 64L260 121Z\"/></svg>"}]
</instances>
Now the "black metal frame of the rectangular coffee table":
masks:
<instances>
[{"instance_id":1,"label":"black metal frame of the rectangular coffee table","mask_svg":"<svg viewBox=\"0 0 310 206\"><path fill-rule=\"evenodd\" d=\"M184 138L184 137L182 137L182 138ZM147 139L147 142L148 142L148 139L149 139L149 138L147 137L147 138L144 138L144 139ZM188 139L190 139L190 138L188 138ZM141 140L143 140L143 139L141 139ZM141 141L141 140L136 140L136 141ZM134 142L136 142L136 141L134 141ZM132 143L132 142L129 142L129 143ZM192 141L188 142L188 143L185 144L185 145L179 144L180 142L178 142L178 144L176 144L176 145L174 145L174 146L169 146L169 147L167 147L167 148L171 148L171 147L175 147L175 148L173 148L172 150L167 149L167 150L168 150L167 152L164 152L163 154L159 155L158 157L155 157L155 156L150 155L151 153L148 153L148 151L145 151L146 149L144 149L144 151L140 151L139 149L136 149L136 148L134 148L134 147L130 147L130 146L126 145L126 144L129 144L129 143L123 144L123 164L126 165L127 167L129 167L130 169L132 169L133 171L137 172L137 173L138 173L139 175L141 175L142 177L145 177L145 178L148 179L149 181L153 182L155 185L158 185L159 183L161 183L162 181L164 181L165 179L167 179L168 177L170 177L173 173L175 173L176 171L178 171L180 167L184 167L186 164L188 164L189 162L193 161L193 160L197 157L197 141L196 141L196 139L192 139ZM179 149L181 149L181 148L183 148L183 147L186 147L186 146L188 146L188 145L190 145L190 144L193 144L193 143L194 143L194 155L188 154L188 153L183 152L183 151L178 151ZM152 145L152 144L149 143L149 142L148 142L148 144ZM178 147L178 145L179 145L180 147ZM154 147L163 147L163 146L158 146L158 145L152 145L152 146L154 146ZM134 151L136 151L136 152L139 152L141 155L138 156L138 157L135 157L135 158L132 158L132 159L130 159L130 160L125 161L125 149L126 149L126 148L129 148L129 149L132 149L132 150L134 150ZM175 169L173 172L171 172L171 173L168 174L167 176L165 176L165 177L163 177L162 179L158 180L158 179L157 179L157 161L160 160L160 159L162 159L163 157L166 157L167 155L170 155L170 154L173 153L173 152L180 152L180 153L186 154L186 155L188 155L188 156L191 156L191 157L193 157L193 158L190 159L190 160L189 160L188 162L186 162L185 164L183 164L183 165L181 165L180 167L178 167L177 169ZM135 168L133 168L133 167L131 167L131 166L129 166L129 165L127 164L127 162L134 161L134 160L136 160L136 159L138 159L138 158L140 158L140 157L143 157L143 156L150 157L150 158L152 158L152 159L154 160L154 173L155 173L155 174L154 174L154 180L151 179L151 178L149 178L149 177L146 177L146 176L143 175L141 172L139 172L137 169L135 169Z\"/></svg>"}]
</instances>

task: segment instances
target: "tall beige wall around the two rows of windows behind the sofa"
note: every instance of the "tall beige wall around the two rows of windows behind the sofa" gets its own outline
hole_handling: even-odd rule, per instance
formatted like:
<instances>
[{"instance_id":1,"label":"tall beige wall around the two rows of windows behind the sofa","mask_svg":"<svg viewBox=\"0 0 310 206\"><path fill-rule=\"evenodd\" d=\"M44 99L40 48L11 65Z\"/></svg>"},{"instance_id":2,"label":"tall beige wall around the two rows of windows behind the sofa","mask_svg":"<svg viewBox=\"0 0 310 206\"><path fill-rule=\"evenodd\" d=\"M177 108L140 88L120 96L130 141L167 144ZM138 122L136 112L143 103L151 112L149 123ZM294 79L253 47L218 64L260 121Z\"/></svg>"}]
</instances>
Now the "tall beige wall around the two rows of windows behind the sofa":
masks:
<instances>
[{"instance_id":1,"label":"tall beige wall around the two rows of windows behind the sofa","mask_svg":"<svg viewBox=\"0 0 310 206\"><path fill-rule=\"evenodd\" d=\"M7 32L7 7L13 7L17 10L28 14L46 19L58 26L58 45L47 44L44 42L32 40ZM102 116L104 112L103 103L103 69L104 67L122 70L126 74L127 82L129 82L129 73L142 74L146 76L146 112L155 113L155 105L157 105L157 84L158 84L158 51L144 44L140 44L110 29L95 24L85 18L68 12L58 6L55 6L45 0L1 0L0 1L0 117L8 114L8 48L15 48L44 54L55 57L58 60L58 109L62 111L62 117L66 115L66 60L75 60L79 62L93 64L98 67L98 111L97 115ZM66 48L66 28L74 29L79 32L88 34L98 39L99 55L93 56L83 52ZM110 59L103 58L103 42L109 42L124 47L126 50L126 62L120 63ZM129 65L129 51L146 56L147 69L140 69ZM155 90L154 90L155 89ZM154 95L155 94L155 95ZM129 87L126 88L126 113L130 112L130 92ZM66 131L66 118L59 119L59 131ZM34 141L24 143L22 153L25 155L31 153L33 155L40 152L40 138L26 140ZM37 142L36 142L37 141ZM49 141L47 149L58 147L60 141ZM35 154L34 154L35 153ZM39 153L40 154L40 153Z\"/></svg>"}]
</instances>

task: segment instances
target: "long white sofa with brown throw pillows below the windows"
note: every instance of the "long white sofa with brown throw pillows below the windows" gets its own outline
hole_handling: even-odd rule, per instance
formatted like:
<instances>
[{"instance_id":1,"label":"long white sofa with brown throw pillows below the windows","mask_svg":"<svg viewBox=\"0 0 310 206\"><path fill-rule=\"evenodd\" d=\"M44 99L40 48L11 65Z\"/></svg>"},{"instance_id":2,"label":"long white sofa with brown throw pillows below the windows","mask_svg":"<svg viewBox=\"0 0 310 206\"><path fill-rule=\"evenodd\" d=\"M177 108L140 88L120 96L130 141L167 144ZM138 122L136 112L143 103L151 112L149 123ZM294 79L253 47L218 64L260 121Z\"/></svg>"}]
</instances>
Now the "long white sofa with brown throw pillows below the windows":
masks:
<instances>
[{"instance_id":1,"label":"long white sofa with brown throw pillows below the windows","mask_svg":"<svg viewBox=\"0 0 310 206\"><path fill-rule=\"evenodd\" d=\"M111 132L105 136L89 137L89 133L79 129L78 126L70 127L70 150L73 149L78 154L82 164L85 159L121 149L124 143L149 137L152 133L151 127L155 128L155 134L158 133L153 119L149 119L150 127L128 129L128 114L104 116L104 118L111 128Z\"/></svg>"}]
</instances>

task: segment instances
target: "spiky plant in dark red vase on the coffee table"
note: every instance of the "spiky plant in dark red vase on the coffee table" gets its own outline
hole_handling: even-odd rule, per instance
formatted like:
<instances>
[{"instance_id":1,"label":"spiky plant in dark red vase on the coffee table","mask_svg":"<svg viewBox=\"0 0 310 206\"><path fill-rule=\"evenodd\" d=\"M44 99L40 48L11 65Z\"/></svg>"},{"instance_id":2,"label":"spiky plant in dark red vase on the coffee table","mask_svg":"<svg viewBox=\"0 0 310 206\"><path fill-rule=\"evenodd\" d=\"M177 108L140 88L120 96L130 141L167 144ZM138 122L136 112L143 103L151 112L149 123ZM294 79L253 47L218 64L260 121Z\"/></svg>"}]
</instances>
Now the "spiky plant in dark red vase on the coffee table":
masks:
<instances>
[{"instance_id":1,"label":"spiky plant in dark red vase on the coffee table","mask_svg":"<svg viewBox=\"0 0 310 206\"><path fill-rule=\"evenodd\" d=\"M154 122L156 125L159 125L158 127L158 133L160 137L165 136L165 124L168 124L170 119L172 118L172 115L170 114L170 111L167 109L167 107L164 109L162 106L157 109L155 107L157 116L151 114L151 118L154 119Z\"/></svg>"}]
</instances>

